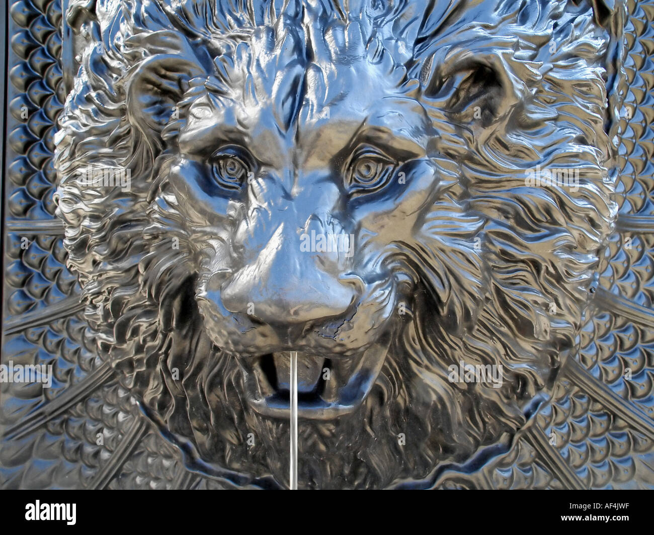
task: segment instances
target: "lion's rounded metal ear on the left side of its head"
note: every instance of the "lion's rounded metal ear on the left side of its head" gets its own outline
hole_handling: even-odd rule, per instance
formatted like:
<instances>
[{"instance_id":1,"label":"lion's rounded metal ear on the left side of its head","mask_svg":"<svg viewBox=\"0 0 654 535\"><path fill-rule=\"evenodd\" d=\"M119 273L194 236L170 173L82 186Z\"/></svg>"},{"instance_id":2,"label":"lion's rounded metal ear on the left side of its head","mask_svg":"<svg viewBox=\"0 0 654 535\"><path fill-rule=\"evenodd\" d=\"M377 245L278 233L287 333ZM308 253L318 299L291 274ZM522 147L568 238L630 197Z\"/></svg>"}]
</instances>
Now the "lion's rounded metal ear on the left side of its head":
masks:
<instances>
[{"instance_id":1,"label":"lion's rounded metal ear on the left side of its head","mask_svg":"<svg viewBox=\"0 0 654 535\"><path fill-rule=\"evenodd\" d=\"M154 140L176 117L176 106L188 89L188 82L207 76L211 60L205 48L194 48L173 31L135 35L126 44L133 53L148 53L128 77L127 112L132 125Z\"/></svg>"}]
</instances>

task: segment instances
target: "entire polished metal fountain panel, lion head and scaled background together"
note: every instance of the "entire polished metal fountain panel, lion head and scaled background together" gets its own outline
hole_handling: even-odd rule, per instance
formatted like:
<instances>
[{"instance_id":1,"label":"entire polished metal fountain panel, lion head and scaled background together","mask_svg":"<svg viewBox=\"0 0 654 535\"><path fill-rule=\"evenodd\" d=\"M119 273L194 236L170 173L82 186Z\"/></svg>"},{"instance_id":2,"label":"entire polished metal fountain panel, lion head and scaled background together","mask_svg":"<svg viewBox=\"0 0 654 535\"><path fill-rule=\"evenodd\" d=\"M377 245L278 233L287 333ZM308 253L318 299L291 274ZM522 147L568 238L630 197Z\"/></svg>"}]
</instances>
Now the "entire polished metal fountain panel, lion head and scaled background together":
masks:
<instances>
[{"instance_id":1,"label":"entire polished metal fountain panel, lion head and scaled background together","mask_svg":"<svg viewBox=\"0 0 654 535\"><path fill-rule=\"evenodd\" d=\"M654 3L10 17L4 487L654 486Z\"/></svg>"}]
</instances>

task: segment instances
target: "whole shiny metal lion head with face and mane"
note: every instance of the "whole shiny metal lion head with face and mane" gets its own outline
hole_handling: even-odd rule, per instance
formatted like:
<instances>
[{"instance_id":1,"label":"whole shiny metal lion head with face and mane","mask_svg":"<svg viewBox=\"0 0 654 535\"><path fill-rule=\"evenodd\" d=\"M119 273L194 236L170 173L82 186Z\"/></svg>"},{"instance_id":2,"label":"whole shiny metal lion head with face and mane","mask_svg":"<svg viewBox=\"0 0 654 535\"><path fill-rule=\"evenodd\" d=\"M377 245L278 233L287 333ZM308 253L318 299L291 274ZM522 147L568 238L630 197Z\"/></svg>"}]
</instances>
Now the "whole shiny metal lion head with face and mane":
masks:
<instances>
[{"instance_id":1,"label":"whole shiny metal lion head with face and mane","mask_svg":"<svg viewBox=\"0 0 654 535\"><path fill-rule=\"evenodd\" d=\"M288 351L308 487L515 433L615 218L608 8L352 4L98 1L61 119L101 358L217 478L284 485Z\"/></svg>"}]
</instances>

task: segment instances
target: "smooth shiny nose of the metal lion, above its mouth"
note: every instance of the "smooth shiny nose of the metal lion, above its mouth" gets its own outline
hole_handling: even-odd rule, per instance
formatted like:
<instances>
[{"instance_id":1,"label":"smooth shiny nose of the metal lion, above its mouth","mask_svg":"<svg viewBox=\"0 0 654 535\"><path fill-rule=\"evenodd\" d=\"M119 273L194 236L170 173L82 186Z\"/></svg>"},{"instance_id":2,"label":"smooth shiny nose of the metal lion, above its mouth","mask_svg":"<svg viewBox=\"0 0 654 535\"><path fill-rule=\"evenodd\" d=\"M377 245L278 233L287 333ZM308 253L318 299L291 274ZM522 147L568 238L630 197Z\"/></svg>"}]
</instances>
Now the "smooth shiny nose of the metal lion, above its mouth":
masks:
<instances>
[{"instance_id":1,"label":"smooth shiny nose of the metal lion, above its mouth","mask_svg":"<svg viewBox=\"0 0 654 535\"><path fill-rule=\"evenodd\" d=\"M225 308L271 324L345 316L356 286L318 267L315 255L279 227L256 260L223 284Z\"/></svg>"}]
</instances>

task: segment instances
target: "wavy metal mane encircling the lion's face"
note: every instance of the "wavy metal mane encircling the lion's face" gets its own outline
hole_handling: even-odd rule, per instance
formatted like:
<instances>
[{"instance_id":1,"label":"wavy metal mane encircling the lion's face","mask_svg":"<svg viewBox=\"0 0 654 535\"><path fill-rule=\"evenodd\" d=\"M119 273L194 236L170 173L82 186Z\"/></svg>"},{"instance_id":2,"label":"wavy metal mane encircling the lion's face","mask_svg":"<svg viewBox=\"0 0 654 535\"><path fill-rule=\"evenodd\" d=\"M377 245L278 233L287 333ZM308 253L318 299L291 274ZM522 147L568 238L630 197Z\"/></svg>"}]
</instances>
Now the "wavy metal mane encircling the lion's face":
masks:
<instances>
[{"instance_id":1,"label":"wavy metal mane encircling the lion's face","mask_svg":"<svg viewBox=\"0 0 654 535\"><path fill-rule=\"evenodd\" d=\"M75 27L73 14L85 7L71 4ZM257 29L279 40L303 25L320 31L331 20L358 20L406 80L418 81L434 143L456 163L458 180L420 229L421 245L404 251L421 291L373 391L346 417L300 422L300 481L429 481L439 464L464 462L520 429L530 402L577 347L616 213L605 110L617 15L601 3L560 0L455 0L425 11L400 0L239 4L98 0L88 14L93 33L61 116L56 167L68 263L99 355L195 469L237 484L283 485L287 423L245 404L235 359L197 327L190 242L198 235L166 187L166 166L188 105L215 85L220 61L238 61ZM300 54L311 47L304 35L293 35ZM148 85L154 61L167 66L170 82L156 90ZM495 76L502 97L476 121L457 123L441 106L456 90L443 80L466 61ZM149 100L137 98L144 93ZM83 186L78 170L88 165L128 169L129 191ZM579 187L526 186L537 166L578 169ZM449 382L448 367L460 361L501 364L504 384Z\"/></svg>"}]
</instances>

